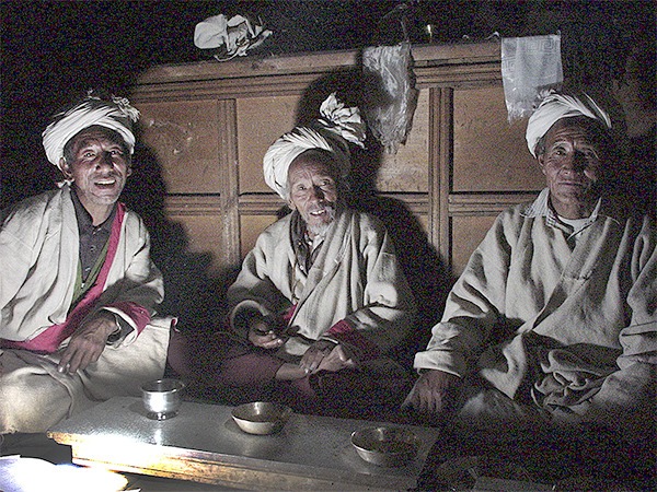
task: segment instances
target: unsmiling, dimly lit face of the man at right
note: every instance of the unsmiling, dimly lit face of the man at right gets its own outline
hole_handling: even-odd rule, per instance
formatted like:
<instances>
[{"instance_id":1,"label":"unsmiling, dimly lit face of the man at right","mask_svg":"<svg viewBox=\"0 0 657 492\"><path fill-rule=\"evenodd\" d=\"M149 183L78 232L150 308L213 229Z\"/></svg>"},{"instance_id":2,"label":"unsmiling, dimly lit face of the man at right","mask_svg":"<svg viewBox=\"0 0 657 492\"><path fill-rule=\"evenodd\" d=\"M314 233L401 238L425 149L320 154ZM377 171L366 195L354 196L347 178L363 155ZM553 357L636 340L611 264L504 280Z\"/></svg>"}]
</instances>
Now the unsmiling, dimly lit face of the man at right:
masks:
<instances>
[{"instance_id":1,"label":"unsmiling, dimly lit face of the man at right","mask_svg":"<svg viewBox=\"0 0 657 492\"><path fill-rule=\"evenodd\" d=\"M566 219L589 216L598 198L603 155L591 130L586 119L560 119L545 134L545 150L538 156L551 203Z\"/></svg>"}]
</instances>

